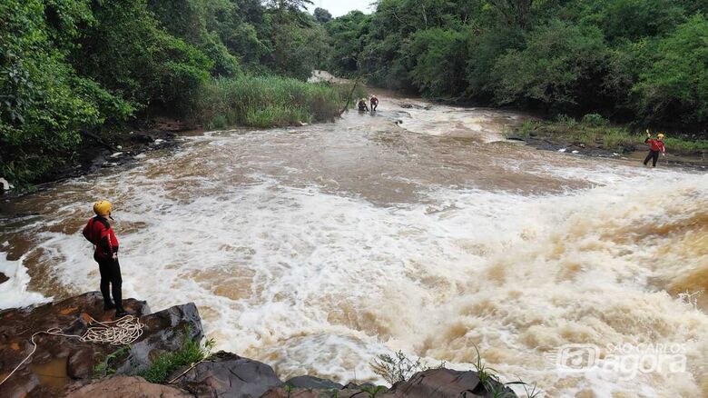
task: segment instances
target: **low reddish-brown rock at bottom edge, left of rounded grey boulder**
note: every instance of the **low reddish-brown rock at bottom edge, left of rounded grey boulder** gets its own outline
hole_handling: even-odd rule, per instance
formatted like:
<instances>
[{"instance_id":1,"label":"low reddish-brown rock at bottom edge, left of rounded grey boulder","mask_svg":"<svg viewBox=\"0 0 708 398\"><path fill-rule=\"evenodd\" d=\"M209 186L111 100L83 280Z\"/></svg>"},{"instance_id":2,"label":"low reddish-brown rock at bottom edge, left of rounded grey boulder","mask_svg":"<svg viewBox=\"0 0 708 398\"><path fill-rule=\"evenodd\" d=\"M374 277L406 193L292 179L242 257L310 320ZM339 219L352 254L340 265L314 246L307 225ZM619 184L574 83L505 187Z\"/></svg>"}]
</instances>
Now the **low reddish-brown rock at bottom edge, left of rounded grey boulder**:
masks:
<instances>
[{"instance_id":1,"label":"low reddish-brown rock at bottom edge, left of rounded grey boulder","mask_svg":"<svg viewBox=\"0 0 708 398\"><path fill-rule=\"evenodd\" d=\"M142 377L116 376L78 388L74 387L66 392L66 397L188 398L192 395L169 385L148 383Z\"/></svg>"}]
</instances>

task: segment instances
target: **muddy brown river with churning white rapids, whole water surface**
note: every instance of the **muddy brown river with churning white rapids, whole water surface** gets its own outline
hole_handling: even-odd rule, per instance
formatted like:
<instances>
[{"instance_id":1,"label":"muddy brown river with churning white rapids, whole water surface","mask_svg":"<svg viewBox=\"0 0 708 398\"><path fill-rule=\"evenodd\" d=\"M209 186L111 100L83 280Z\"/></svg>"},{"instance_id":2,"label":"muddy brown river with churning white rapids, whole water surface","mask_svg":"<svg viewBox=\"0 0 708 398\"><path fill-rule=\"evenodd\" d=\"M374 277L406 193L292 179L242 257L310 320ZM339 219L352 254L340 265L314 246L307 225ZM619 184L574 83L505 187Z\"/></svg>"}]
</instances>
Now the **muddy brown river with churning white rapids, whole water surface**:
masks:
<instances>
[{"instance_id":1,"label":"muddy brown river with churning white rapids, whole water surface","mask_svg":"<svg viewBox=\"0 0 708 398\"><path fill-rule=\"evenodd\" d=\"M197 303L217 348L281 377L377 380L397 350L469 369L477 345L548 397L708 396L708 174L507 142L523 114L380 99L3 202L0 308L97 290L80 230L107 198L123 295ZM677 344L685 371L559 366L623 343Z\"/></svg>"}]
</instances>

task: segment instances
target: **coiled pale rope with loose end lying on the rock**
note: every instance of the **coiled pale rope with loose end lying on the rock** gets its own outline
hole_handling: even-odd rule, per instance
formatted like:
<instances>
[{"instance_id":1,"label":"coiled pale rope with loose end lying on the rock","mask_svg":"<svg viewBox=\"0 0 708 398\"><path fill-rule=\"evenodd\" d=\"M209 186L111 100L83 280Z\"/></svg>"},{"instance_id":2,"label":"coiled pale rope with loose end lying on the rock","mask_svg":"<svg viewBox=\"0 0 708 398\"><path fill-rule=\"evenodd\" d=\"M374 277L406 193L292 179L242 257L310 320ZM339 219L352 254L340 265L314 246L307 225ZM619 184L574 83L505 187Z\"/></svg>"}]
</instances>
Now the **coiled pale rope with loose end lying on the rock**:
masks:
<instances>
[{"instance_id":1,"label":"coiled pale rope with loose end lying on the rock","mask_svg":"<svg viewBox=\"0 0 708 398\"><path fill-rule=\"evenodd\" d=\"M5 383L7 379L10 378L17 370L25 363L28 359L32 357L34 352L37 350L37 343L34 343L34 336L37 334L51 334L53 336L71 337L78 338L79 341L84 343L109 343L111 345L124 345L133 343L140 336L143 335L143 327L145 323L140 322L140 319L133 315L125 315L122 318L116 319L115 321L99 322L89 316L89 328L83 335L78 334L66 334L64 331L58 327L53 327L44 331L36 332L30 337L30 343L34 345L32 351L25 357L25 359L15 366L12 372L10 372L0 385ZM115 323L112 325L111 323ZM93 326L96 325L96 326Z\"/></svg>"}]
</instances>

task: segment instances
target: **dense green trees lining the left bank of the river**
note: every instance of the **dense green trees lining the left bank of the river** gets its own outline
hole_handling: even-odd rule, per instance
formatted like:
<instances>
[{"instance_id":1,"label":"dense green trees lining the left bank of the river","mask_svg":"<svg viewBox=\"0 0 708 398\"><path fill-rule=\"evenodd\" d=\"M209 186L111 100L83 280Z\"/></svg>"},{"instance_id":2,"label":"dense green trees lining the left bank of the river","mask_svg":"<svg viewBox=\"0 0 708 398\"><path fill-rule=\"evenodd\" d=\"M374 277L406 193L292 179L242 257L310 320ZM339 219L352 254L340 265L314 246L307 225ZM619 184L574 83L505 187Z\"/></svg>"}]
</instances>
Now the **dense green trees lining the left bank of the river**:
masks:
<instances>
[{"instance_id":1,"label":"dense green trees lining the left bank of the river","mask_svg":"<svg viewBox=\"0 0 708 398\"><path fill-rule=\"evenodd\" d=\"M35 181L72 164L85 136L105 136L151 114L192 114L195 99L215 87L251 85L245 75L307 78L328 48L324 27L303 11L309 3L3 0L0 176ZM310 95L306 85L297 88ZM329 90L325 96L337 97ZM259 104L260 97L243 101ZM273 117L275 124L319 118L310 105L287 113L297 117ZM262 114L256 118L265 124Z\"/></svg>"}]
</instances>

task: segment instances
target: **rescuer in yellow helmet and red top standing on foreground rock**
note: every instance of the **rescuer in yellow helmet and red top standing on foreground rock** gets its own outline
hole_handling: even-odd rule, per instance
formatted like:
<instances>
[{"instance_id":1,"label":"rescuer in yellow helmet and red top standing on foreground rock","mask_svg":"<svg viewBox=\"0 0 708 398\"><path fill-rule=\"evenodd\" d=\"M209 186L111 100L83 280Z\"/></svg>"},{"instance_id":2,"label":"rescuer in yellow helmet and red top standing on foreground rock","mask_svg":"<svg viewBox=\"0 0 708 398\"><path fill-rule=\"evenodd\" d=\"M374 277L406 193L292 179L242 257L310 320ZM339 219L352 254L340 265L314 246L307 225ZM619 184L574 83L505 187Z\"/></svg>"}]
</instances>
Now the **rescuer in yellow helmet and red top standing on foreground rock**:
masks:
<instances>
[{"instance_id":1,"label":"rescuer in yellow helmet and red top standing on foreground rock","mask_svg":"<svg viewBox=\"0 0 708 398\"><path fill-rule=\"evenodd\" d=\"M118 238L113 233L113 228L108 222L111 217L111 203L98 201L93 204L95 217L90 219L84 227L84 237L93 244L93 260L98 263L101 273L101 294L103 294L103 310L115 308L115 317L121 318L128 313L123 309L121 285L121 265L118 264ZM113 301L111 293L113 292Z\"/></svg>"}]
</instances>

